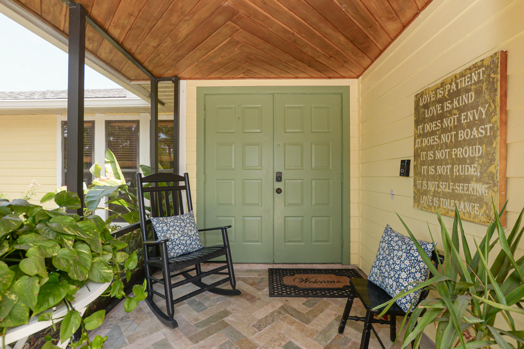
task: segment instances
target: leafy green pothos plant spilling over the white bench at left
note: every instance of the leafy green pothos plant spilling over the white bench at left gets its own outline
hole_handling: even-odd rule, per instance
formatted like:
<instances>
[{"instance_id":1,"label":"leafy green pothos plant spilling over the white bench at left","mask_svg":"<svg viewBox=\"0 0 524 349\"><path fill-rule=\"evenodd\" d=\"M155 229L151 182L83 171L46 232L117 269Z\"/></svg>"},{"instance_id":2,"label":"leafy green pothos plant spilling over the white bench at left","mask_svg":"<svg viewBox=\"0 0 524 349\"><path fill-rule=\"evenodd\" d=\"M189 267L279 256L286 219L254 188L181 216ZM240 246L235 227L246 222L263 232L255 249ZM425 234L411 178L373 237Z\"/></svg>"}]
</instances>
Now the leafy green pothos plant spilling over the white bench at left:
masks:
<instances>
[{"instance_id":1,"label":"leafy green pothos plant spilling over the white bench at left","mask_svg":"<svg viewBox=\"0 0 524 349\"><path fill-rule=\"evenodd\" d=\"M39 321L52 320L53 326L61 321L61 342L80 328L80 340L72 347L102 348L107 337L97 335L91 341L87 331L102 324L105 310L82 319L71 302L88 280L111 282L104 295L125 297L125 311L132 311L147 297L145 285L135 285L131 297L122 280L130 277L138 258L136 252L119 251L127 244L113 238L108 221L65 212L81 207L77 194L61 191L53 200L58 208L46 210L22 199L0 199L0 330L5 334L38 316ZM63 318L43 312L62 302L68 308ZM58 348L47 339L44 348Z\"/></svg>"}]
</instances>

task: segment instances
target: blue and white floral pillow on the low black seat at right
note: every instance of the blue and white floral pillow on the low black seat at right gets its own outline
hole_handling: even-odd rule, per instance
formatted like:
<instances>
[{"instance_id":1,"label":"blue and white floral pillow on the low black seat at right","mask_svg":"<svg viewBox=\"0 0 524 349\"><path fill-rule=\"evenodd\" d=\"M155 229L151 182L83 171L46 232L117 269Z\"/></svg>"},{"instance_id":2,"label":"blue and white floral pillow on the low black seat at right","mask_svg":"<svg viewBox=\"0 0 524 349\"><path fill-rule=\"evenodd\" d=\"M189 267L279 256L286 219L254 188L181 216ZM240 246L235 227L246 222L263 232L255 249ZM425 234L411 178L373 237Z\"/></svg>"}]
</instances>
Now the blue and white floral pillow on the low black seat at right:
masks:
<instances>
[{"instance_id":1,"label":"blue and white floral pillow on the low black seat at right","mask_svg":"<svg viewBox=\"0 0 524 349\"><path fill-rule=\"evenodd\" d=\"M424 252L431 258L435 248L433 243L417 240ZM410 237L391 229L389 224L380 239L375 262L369 272L368 280L395 297L404 291L416 287L414 281L424 282L428 278L428 266L422 261L417 247ZM419 300L420 290L397 299L399 307L408 312L412 303Z\"/></svg>"}]
</instances>

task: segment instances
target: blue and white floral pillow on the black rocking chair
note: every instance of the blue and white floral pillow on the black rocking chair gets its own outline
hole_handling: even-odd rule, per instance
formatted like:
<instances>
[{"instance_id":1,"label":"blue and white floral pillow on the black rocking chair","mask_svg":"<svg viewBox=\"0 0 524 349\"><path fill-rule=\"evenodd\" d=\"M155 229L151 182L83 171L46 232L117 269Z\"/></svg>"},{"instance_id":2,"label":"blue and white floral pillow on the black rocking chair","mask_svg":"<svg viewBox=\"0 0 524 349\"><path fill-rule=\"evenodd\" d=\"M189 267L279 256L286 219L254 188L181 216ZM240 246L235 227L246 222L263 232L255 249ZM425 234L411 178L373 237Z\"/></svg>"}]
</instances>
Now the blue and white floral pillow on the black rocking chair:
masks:
<instances>
[{"instance_id":1,"label":"blue and white floral pillow on the black rocking chair","mask_svg":"<svg viewBox=\"0 0 524 349\"><path fill-rule=\"evenodd\" d=\"M169 239L169 258L200 250L204 245L196 228L193 211L180 216L151 217L151 223L159 239Z\"/></svg>"}]
</instances>

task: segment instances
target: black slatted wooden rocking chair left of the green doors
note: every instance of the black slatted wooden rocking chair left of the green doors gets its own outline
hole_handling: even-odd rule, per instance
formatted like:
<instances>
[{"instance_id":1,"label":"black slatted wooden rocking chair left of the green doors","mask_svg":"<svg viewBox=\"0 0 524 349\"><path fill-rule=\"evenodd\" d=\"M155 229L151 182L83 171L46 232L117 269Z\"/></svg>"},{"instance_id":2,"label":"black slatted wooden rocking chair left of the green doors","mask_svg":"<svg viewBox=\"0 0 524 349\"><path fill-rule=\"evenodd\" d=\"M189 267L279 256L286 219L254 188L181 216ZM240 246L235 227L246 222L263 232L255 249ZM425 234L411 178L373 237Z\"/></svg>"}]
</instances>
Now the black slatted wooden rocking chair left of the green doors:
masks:
<instances>
[{"instance_id":1,"label":"black slatted wooden rocking chair left of the green doors","mask_svg":"<svg viewBox=\"0 0 524 349\"><path fill-rule=\"evenodd\" d=\"M152 227L150 219L146 217L146 207L144 205L144 196L149 199L151 208L151 217L168 217L175 215L182 215L183 199L182 192L185 190L185 198L187 200L188 212L193 210L191 202L191 191L189 189L189 177L187 173L180 176L173 173L157 173L146 177L142 177L141 173L136 174L137 189L138 189L138 206L140 208L140 230L142 234L142 241L144 247L144 269L146 277L146 290L148 296L146 298L147 305L157 318L170 328L178 327L178 323L173 319L174 305L193 296L201 294L204 291L210 291L219 295L237 296L241 294L236 289L235 274L233 272L233 262L231 261L231 251L229 240L227 238L227 227L200 229L199 231L221 230L223 245L205 246L200 250L186 253L174 258L168 258L167 241L168 239L158 240L157 234ZM150 186L148 186L148 184ZM144 186L145 185L145 186ZM147 198L147 195L149 198ZM160 256L158 256L158 249ZM212 260L216 257L225 255L226 264L214 268L207 272L202 272L200 263ZM180 269L193 266L190 269ZM153 277L155 269L162 269L162 278ZM222 272L228 269L227 272ZM195 272L195 275L189 272ZM175 273L171 275L171 273ZM202 278L213 274L227 275L226 278L218 280L210 285L204 284ZM172 278L176 276L183 276L185 279L172 283ZM217 286L229 282L232 289L217 288ZM160 283L164 286L164 294L153 289L153 285ZM172 289L188 283L193 283L200 289L190 292L184 296L173 300ZM160 308L153 301L153 295L157 295L166 300L166 312Z\"/></svg>"}]
</instances>

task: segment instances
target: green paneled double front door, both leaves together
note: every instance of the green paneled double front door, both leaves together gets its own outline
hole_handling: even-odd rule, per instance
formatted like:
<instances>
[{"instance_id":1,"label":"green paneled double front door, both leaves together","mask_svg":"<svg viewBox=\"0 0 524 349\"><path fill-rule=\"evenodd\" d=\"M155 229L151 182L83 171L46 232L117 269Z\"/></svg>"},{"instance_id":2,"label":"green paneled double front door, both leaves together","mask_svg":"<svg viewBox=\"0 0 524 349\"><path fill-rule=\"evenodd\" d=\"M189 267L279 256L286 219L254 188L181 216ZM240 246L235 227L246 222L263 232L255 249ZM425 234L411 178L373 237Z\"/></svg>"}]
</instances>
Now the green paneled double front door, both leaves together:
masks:
<instances>
[{"instance_id":1,"label":"green paneled double front door, both leaves together","mask_svg":"<svg viewBox=\"0 0 524 349\"><path fill-rule=\"evenodd\" d=\"M341 102L341 94L205 95L205 227L233 227L235 262L341 262ZM206 245L221 241L206 232Z\"/></svg>"}]
</instances>

